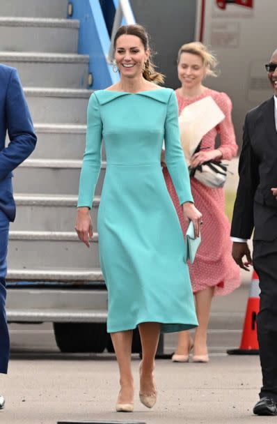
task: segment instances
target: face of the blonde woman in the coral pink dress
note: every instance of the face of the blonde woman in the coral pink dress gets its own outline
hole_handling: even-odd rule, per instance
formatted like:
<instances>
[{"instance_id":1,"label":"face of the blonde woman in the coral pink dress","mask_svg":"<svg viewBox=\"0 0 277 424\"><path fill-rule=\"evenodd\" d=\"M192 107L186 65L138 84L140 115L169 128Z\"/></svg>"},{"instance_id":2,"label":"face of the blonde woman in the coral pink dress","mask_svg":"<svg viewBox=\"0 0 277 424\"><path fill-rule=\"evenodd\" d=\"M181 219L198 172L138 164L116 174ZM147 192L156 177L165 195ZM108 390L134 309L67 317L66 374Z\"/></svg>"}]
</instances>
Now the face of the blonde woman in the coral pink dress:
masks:
<instances>
[{"instance_id":1,"label":"face of the blonde woman in the coral pink dress","mask_svg":"<svg viewBox=\"0 0 277 424\"><path fill-rule=\"evenodd\" d=\"M202 84L207 68L198 54L183 52L177 66L178 78L182 86L193 89Z\"/></svg>"}]
</instances>

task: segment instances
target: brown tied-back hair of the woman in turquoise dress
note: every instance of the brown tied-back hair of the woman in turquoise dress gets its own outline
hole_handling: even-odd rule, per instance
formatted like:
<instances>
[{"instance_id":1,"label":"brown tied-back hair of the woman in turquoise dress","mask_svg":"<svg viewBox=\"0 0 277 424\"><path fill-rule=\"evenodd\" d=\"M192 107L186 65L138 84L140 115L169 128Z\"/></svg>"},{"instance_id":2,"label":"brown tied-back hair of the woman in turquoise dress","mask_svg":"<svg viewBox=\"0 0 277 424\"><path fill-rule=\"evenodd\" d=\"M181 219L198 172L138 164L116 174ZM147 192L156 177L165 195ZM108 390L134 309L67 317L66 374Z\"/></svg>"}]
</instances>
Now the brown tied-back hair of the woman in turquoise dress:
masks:
<instances>
[{"instance_id":1,"label":"brown tied-back hair of the woman in turquoise dress","mask_svg":"<svg viewBox=\"0 0 277 424\"><path fill-rule=\"evenodd\" d=\"M150 51L150 56L148 60L145 62L143 77L150 82L155 82L155 84L164 84L164 75L155 71L156 66L152 62L151 49L149 46L149 37L148 37L148 33L145 31L145 28L139 24L122 25L122 27L118 28L118 31L116 32L116 36L113 40L113 48L115 50L116 50L116 41L122 35L136 36L141 39L141 43L143 43L143 47L145 48L145 50Z\"/></svg>"}]
</instances>

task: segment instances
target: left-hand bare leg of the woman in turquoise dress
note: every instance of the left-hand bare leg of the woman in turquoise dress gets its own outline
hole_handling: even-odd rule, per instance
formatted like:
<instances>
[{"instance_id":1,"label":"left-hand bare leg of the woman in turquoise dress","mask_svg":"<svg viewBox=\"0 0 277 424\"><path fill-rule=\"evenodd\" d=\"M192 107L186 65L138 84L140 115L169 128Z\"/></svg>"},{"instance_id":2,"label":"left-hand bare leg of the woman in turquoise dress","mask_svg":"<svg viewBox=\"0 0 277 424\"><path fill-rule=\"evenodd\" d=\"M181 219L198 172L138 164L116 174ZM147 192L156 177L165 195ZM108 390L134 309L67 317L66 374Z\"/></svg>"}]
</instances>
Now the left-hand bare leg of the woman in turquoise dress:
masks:
<instances>
[{"instance_id":1,"label":"left-hand bare leg of the woman in turquoise dress","mask_svg":"<svg viewBox=\"0 0 277 424\"><path fill-rule=\"evenodd\" d=\"M134 379L131 368L132 338L132 330L111 333L120 373L120 393L117 402L120 404L131 404L134 402Z\"/></svg>"}]
</instances>

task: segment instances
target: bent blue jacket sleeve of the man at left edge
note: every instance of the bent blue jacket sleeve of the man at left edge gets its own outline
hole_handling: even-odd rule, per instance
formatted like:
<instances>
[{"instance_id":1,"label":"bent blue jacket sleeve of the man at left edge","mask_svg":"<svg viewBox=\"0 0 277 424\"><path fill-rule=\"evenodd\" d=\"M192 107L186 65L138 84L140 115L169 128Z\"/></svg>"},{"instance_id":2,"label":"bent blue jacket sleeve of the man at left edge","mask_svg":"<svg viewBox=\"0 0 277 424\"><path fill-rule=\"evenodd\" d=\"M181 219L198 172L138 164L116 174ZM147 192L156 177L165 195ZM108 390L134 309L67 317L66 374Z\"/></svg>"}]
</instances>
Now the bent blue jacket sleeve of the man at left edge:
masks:
<instances>
[{"instance_id":1,"label":"bent blue jacket sleeve of the man at left edge","mask_svg":"<svg viewBox=\"0 0 277 424\"><path fill-rule=\"evenodd\" d=\"M36 136L17 70L10 73L6 92L6 125L10 143L0 151L0 180L5 179L35 149Z\"/></svg>"}]
</instances>

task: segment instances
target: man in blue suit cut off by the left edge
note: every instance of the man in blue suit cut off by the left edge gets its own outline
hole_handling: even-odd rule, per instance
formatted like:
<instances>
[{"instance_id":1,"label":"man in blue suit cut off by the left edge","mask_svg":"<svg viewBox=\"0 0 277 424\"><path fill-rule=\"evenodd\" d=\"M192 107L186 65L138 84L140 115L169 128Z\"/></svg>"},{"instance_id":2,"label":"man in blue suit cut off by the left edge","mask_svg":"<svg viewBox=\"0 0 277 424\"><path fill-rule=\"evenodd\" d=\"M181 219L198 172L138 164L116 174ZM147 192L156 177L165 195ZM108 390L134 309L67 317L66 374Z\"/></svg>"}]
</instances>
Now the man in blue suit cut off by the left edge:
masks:
<instances>
[{"instance_id":1,"label":"man in blue suit cut off by the left edge","mask_svg":"<svg viewBox=\"0 0 277 424\"><path fill-rule=\"evenodd\" d=\"M6 132L10 143L5 147ZM12 171L35 148L36 137L17 70L0 64L0 373L8 370L9 337L6 322L6 257L9 222L15 220ZM0 409L5 400L0 395Z\"/></svg>"}]
</instances>

